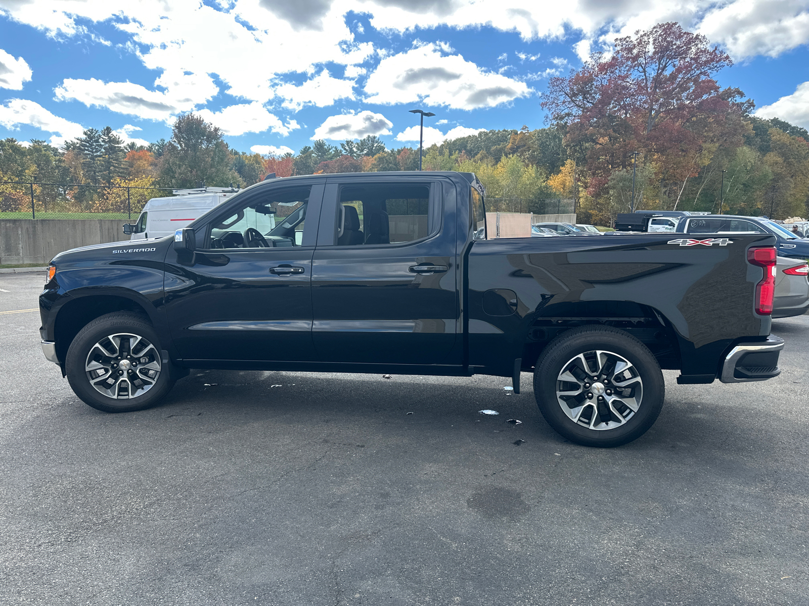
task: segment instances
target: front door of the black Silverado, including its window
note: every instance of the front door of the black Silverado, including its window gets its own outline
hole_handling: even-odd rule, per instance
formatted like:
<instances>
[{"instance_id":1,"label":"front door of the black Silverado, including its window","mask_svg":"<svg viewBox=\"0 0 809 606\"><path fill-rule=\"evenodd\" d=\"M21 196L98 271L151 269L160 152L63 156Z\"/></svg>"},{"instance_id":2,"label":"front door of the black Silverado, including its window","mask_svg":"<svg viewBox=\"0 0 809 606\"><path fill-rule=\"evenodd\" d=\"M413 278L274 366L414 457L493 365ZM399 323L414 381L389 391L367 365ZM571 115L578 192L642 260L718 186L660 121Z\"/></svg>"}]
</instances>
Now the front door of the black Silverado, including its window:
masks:
<instances>
[{"instance_id":1,"label":"front door of the black Silverado, including its window","mask_svg":"<svg viewBox=\"0 0 809 606\"><path fill-rule=\"evenodd\" d=\"M166 313L183 360L315 359L311 259L324 185L280 185L223 205L197 230L193 256L169 250Z\"/></svg>"}]
</instances>

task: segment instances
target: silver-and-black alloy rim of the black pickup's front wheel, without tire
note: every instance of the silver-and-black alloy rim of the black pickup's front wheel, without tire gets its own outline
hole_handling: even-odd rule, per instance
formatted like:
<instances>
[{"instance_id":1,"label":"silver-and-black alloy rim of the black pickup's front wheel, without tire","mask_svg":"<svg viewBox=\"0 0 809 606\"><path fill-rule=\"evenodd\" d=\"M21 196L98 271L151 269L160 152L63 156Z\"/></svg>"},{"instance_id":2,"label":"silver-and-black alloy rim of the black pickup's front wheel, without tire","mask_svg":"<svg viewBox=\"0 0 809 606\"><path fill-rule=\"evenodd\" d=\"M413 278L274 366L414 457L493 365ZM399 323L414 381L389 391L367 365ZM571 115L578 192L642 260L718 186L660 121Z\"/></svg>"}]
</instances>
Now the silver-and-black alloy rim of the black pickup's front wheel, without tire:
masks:
<instances>
[{"instance_id":1,"label":"silver-and-black alloy rim of the black pickup's front wheel, without tire","mask_svg":"<svg viewBox=\"0 0 809 606\"><path fill-rule=\"evenodd\" d=\"M84 370L90 385L116 400L137 398L160 376L160 353L138 335L109 335L87 354Z\"/></svg>"}]
</instances>

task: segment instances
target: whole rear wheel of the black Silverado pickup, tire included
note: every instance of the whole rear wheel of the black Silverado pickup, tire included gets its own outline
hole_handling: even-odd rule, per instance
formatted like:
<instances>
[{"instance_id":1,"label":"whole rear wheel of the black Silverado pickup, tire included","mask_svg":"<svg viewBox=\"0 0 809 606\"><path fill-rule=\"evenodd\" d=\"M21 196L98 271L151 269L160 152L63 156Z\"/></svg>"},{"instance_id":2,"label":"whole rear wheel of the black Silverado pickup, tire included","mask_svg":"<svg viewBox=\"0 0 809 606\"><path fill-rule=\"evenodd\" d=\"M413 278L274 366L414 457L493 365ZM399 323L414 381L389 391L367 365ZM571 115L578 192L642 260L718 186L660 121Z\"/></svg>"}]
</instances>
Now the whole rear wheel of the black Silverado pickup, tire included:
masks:
<instances>
[{"instance_id":1,"label":"whole rear wheel of the black Silverado pickup, tire included","mask_svg":"<svg viewBox=\"0 0 809 606\"><path fill-rule=\"evenodd\" d=\"M605 353L595 356L595 351ZM580 355L582 358L576 360ZM620 360L621 357L625 360ZM627 362L632 366L625 367ZM588 364L589 369L583 368L583 364ZM603 364L600 368L604 370L596 376L599 364ZM612 381L609 378L593 381L593 378L608 377L610 364L612 371L627 368L628 372L613 372ZM563 370L570 372L565 377L582 375L579 368L591 376L579 377L577 383L560 381ZM629 384L629 389L616 388L616 380L621 385ZM585 385L591 387L585 388ZM578 395L564 395L576 389L580 390ZM597 396L594 392L604 395ZM625 398L626 393L630 397ZM581 326L565 331L545 347L536 361L534 395L542 416L561 436L583 446L612 448L637 440L654 424L663 407L665 383L658 361L649 348L632 335L610 326ZM616 397L621 399L611 399ZM630 402L637 410L633 411L625 402ZM574 419L576 415L579 415L578 420Z\"/></svg>"}]
</instances>

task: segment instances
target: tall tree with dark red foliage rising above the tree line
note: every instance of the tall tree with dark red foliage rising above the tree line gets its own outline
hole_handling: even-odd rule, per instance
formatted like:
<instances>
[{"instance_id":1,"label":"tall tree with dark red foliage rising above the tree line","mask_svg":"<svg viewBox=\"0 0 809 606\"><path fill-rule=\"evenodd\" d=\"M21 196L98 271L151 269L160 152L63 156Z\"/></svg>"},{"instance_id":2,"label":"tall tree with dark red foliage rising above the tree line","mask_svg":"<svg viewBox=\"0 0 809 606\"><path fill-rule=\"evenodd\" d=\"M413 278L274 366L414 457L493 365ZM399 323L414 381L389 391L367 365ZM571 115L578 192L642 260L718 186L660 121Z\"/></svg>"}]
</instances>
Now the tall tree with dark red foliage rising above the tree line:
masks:
<instances>
[{"instance_id":1,"label":"tall tree with dark red foliage rising above the tree line","mask_svg":"<svg viewBox=\"0 0 809 606\"><path fill-rule=\"evenodd\" d=\"M727 120L742 136L740 118L752 106L714 80L729 65L705 36L659 23L615 40L611 56L599 53L569 77L552 78L542 107L568 124L565 145L586 162L591 196L604 193L612 171L632 166L634 151L654 162L663 182L684 182Z\"/></svg>"}]
</instances>

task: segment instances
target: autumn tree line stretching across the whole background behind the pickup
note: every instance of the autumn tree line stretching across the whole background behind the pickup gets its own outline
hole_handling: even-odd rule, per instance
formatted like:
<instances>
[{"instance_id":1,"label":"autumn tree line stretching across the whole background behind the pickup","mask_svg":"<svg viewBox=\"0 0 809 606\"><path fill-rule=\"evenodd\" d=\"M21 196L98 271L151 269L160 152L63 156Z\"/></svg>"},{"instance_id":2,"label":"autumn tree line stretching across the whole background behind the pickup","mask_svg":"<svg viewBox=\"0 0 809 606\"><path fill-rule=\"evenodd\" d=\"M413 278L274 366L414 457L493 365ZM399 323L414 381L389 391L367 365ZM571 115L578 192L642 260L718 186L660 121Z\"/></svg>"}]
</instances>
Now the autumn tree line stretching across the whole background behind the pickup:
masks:
<instances>
[{"instance_id":1,"label":"autumn tree line stretching across the whole background behind the pickup","mask_svg":"<svg viewBox=\"0 0 809 606\"><path fill-rule=\"evenodd\" d=\"M716 75L731 58L676 23L615 40L580 69L552 78L544 128L489 130L424 150L424 170L474 172L487 198L574 201L578 221L611 225L630 208L806 217L809 133L752 115L755 104ZM264 179L339 172L417 170L418 149L388 149L379 137L298 154L230 149L193 113L168 141L124 145L112 129L89 128L61 149L44 141L0 141L0 181L130 187L245 187ZM633 188L633 178L635 187ZM37 187L40 199L74 210L121 208L121 190ZM634 191L634 199L632 199ZM142 191L148 200L154 191ZM28 191L0 183L0 211L30 208ZM37 207L39 209L39 207Z\"/></svg>"}]
</instances>

